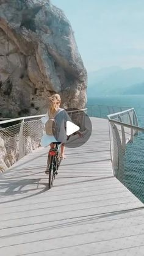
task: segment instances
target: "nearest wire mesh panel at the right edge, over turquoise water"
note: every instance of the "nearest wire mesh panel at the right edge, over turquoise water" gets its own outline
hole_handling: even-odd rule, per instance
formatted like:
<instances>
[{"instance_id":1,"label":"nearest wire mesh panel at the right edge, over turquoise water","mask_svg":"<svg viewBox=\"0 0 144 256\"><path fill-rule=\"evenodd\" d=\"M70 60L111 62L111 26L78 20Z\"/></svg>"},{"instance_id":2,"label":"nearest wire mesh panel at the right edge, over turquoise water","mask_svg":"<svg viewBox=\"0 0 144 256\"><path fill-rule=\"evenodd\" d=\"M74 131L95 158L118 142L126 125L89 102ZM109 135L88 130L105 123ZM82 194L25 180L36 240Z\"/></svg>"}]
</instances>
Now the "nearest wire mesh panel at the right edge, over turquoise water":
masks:
<instances>
[{"instance_id":1,"label":"nearest wire mesh panel at the right edge, over turquoise water","mask_svg":"<svg viewBox=\"0 0 144 256\"><path fill-rule=\"evenodd\" d=\"M118 152L116 177L144 203L144 133L139 133L133 143Z\"/></svg>"}]
</instances>

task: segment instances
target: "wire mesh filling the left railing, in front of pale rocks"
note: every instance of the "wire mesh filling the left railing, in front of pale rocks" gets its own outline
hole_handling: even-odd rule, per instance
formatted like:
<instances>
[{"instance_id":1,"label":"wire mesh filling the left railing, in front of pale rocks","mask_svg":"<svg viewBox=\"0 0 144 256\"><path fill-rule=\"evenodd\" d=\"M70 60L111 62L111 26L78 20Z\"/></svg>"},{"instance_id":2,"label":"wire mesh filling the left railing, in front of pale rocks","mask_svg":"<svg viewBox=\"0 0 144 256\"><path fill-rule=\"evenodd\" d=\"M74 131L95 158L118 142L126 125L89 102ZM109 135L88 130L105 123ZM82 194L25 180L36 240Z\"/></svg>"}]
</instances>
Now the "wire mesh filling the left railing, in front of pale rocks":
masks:
<instances>
[{"instance_id":1,"label":"wire mesh filling the left railing, in front of pale rocks","mask_svg":"<svg viewBox=\"0 0 144 256\"><path fill-rule=\"evenodd\" d=\"M40 119L0 128L0 170L7 170L20 158L40 147L43 133Z\"/></svg>"}]
</instances>

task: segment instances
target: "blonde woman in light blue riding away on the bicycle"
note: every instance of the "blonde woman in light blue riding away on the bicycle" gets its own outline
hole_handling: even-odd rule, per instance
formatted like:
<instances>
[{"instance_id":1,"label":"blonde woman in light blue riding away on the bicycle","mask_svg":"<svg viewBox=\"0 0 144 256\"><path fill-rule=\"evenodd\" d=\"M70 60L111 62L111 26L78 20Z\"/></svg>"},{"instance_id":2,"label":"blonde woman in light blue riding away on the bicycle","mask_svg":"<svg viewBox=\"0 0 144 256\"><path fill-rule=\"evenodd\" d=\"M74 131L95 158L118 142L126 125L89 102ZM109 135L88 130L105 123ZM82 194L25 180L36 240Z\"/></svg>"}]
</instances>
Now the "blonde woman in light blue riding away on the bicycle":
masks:
<instances>
[{"instance_id":1,"label":"blonde woman in light blue riding away on the bicycle","mask_svg":"<svg viewBox=\"0 0 144 256\"><path fill-rule=\"evenodd\" d=\"M54 147L52 142L61 142L60 145L60 157L63 159L65 158L64 151L65 151L65 142L67 141L67 134L66 134L66 123L67 121L71 122L71 119L65 109L60 108L61 98L60 95L55 93L51 97L48 98L48 112L46 116L41 119L41 121L45 124L49 118L54 117L57 121L57 126L59 130L59 134L56 137L49 136L44 134L41 139L41 145L46 147L50 145L50 147ZM77 131L77 134L80 137L83 137L80 131Z\"/></svg>"}]
</instances>

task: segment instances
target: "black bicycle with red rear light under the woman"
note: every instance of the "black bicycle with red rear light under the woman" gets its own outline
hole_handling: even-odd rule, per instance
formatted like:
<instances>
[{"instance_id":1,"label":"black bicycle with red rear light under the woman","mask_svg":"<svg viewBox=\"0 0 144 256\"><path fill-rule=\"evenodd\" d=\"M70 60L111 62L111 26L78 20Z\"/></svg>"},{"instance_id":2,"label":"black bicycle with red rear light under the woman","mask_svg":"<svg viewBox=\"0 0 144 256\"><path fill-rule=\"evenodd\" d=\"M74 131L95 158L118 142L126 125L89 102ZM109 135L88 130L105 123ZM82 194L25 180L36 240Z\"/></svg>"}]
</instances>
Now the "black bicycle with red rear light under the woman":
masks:
<instances>
[{"instance_id":1,"label":"black bicycle with red rear light under the woman","mask_svg":"<svg viewBox=\"0 0 144 256\"><path fill-rule=\"evenodd\" d=\"M53 186L56 175L58 174L57 170L59 169L62 158L60 158L59 145L61 142L53 142L54 147L49 150L47 168L49 171L49 180L48 185L49 189Z\"/></svg>"}]
</instances>

